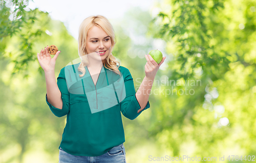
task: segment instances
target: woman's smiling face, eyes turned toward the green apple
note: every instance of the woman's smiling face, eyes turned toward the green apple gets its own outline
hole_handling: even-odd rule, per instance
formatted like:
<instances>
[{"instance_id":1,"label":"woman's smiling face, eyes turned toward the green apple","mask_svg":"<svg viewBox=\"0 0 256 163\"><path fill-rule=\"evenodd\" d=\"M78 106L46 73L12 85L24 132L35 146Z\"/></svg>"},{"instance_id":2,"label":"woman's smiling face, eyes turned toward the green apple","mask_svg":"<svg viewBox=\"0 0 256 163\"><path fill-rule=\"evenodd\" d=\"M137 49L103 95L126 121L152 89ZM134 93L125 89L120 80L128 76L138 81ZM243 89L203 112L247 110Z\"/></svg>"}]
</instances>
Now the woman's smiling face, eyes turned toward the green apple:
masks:
<instances>
[{"instance_id":1,"label":"woman's smiling face, eyes turned toward the green apple","mask_svg":"<svg viewBox=\"0 0 256 163\"><path fill-rule=\"evenodd\" d=\"M111 39L101 28L94 25L87 33L86 50L88 59L105 60L109 56Z\"/></svg>"}]
</instances>

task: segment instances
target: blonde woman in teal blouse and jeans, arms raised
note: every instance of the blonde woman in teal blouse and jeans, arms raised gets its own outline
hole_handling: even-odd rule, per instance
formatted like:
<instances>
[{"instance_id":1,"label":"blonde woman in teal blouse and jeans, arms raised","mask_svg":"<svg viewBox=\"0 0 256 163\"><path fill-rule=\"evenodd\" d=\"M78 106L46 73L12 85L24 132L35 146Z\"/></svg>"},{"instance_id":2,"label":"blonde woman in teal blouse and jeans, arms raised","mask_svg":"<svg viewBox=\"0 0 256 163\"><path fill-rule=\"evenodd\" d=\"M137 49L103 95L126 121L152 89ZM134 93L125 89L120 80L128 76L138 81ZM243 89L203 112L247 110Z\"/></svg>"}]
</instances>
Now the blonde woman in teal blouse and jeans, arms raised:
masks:
<instances>
[{"instance_id":1,"label":"blonde woman in teal blouse and jeans, arms raised","mask_svg":"<svg viewBox=\"0 0 256 163\"><path fill-rule=\"evenodd\" d=\"M67 115L59 146L59 162L126 162L121 113L131 120L150 107L148 97L155 75L164 62L157 64L145 55L145 77L134 89L130 71L112 55L115 34L104 16L90 16L79 28L79 64L54 75L56 59L48 46L37 53L46 77L46 102L57 117ZM80 74L79 74L80 73ZM121 113L120 113L121 112Z\"/></svg>"}]
</instances>

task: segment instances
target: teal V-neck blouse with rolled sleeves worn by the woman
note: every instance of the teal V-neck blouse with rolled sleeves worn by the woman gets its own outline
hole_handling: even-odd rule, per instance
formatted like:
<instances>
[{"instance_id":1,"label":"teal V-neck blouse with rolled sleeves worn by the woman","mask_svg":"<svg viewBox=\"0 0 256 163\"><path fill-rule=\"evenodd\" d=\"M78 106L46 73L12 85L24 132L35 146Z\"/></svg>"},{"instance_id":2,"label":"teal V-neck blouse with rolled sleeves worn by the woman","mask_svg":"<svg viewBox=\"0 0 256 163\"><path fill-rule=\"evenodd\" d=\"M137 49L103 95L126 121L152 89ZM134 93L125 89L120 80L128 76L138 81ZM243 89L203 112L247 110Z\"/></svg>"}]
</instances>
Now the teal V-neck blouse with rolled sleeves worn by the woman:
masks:
<instances>
[{"instance_id":1,"label":"teal V-neck blouse with rolled sleeves worn by the woman","mask_svg":"<svg viewBox=\"0 0 256 163\"><path fill-rule=\"evenodd\" d=\"M129 69L119 66L119 75L102 66L94 85L87 66L79 77L79 64L63 67L57 77L62 109L52 106L47 94L46 102L55 116L67 115L59 148L72 155L100 156L125 142L121 113L134 120L150 103L138 113L141 107Z\"/></svg>"}]
</instances>

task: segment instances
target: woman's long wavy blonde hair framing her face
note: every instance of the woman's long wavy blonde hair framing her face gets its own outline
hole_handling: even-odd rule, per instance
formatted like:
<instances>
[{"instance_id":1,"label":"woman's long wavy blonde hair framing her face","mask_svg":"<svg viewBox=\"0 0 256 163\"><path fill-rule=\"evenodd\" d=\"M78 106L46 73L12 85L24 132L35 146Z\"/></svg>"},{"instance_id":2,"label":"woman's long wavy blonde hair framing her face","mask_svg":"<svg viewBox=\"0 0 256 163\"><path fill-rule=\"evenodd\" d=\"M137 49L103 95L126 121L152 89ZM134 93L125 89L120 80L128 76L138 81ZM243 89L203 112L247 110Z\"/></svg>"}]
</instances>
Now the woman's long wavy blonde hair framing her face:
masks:
<instances>
[{"instance_id":1,"label":"woman's long wavy blonde hair framing her face","mask_svg":"<svg viewBox=\"0 0 256 163\"><path fill-rule=\"evenodd\" d=\"M111 39L111 50L109 53L110 55L106 57L106 59L103 61L103 66L120 75L120 71L118 70L120 63L112 55L112 50L116 44L114 29L110 21L106 17L102 15L97 15L89 16L88 18L84 19L79 27L78 55L82 60L80 65L78 66L78 71L82 72L82 74L79 74L79 76L82 77L86 73L86 69L84 67L89 64L86 50L87 33L94 25L97 25L99 28L101 28L106 34L110 36ZM119 63L118 67L117 63Z\"/></svg>"}]
</instances>

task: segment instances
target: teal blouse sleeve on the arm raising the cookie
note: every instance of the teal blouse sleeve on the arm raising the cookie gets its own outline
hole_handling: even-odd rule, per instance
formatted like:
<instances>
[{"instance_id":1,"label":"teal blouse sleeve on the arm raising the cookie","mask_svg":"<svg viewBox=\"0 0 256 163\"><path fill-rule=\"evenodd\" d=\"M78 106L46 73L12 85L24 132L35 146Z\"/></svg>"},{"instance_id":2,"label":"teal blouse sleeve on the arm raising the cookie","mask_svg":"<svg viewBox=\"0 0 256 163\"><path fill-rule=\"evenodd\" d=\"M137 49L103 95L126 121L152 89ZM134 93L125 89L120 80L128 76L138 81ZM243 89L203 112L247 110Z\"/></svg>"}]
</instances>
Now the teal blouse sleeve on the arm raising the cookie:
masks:
<instances>
[{"instance_id":1,"label":"teal blouse sleeve on the arm raising the cookie","mask_svg":"<svg viewBox=\"0 0 256 163\"><path fill-rule=\"evenodd\" d=\"M70 99L69 99L70 94L68 91L66 78L65 78L65 67L60 70L59 76L57 77L57 85L61 93L62 109L56 108L53 105L51 105L47 100L47 94L46 94L46 102L50 107L50 110L55 116L62 117L67 115L70 111Z\"/></svg>"}]
</instances>

